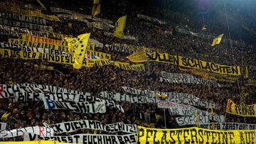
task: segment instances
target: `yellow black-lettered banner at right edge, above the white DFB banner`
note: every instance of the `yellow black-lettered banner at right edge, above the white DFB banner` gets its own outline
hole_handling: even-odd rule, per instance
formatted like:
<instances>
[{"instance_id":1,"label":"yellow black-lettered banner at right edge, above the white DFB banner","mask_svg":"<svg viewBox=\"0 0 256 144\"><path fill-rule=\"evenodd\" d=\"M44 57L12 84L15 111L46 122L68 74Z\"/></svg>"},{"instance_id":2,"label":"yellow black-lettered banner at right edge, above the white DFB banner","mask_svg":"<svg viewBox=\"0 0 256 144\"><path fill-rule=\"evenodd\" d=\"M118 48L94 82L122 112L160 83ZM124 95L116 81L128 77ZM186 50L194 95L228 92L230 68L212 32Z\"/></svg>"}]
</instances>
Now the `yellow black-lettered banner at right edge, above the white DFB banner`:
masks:
<instances>
[{"instance_id":1,"label":"yellow black-lettered banner at right edge, above the white DFB banner","mask_svg":"<svg viewBox=\"0 0 256 144\"><path fill-rule=\"evenodd\" d=\"M228 99L226 112L238 116L256 117L256 104L235 104L234 101Z\"/></svg>"}]
</instances>

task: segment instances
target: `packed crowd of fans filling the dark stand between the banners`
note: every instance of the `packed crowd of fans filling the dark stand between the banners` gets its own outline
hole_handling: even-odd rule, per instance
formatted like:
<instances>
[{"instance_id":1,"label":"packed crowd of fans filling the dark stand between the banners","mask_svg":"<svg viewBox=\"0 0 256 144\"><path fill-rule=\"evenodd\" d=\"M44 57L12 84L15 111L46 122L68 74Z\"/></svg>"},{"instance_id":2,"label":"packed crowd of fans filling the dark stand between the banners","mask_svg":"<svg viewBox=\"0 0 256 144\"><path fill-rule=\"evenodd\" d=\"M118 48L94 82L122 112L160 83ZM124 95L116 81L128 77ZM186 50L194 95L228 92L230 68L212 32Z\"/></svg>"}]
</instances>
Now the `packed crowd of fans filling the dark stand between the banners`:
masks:
<instances>
[{"instance_id":1,"label":"packed crowd of fans filling the dark stand between the banners","mask_svg":"<svg viewBox=\"0 0 256 144\"><path fill-rule=\"evenodd\" d=\"M63 2L64 1L53 2L46 0L43 1L43 4L46 4L46 7L55 6L72 11L77 9L78 5L75 5L75 1L74 3L71 3L74 5L68 5L70 3L65 5ZM85 6L85 4L80 6ZM82 10L78 9L77 11L86 11L85 13L89 13L87 7L88 6L85 6ZM134 13L137 13L137 11ZM122 43L139 47L144 46L151 50L167 52L171 55L182 55L184 57L215 62L222 65L240 65L243 67L248 65L249 78L255 77L256 71L250 69L250 67L256 67L255 43L233 43L232 48L230 48L230 43L226 42L212 47L210 46L212 40L177 33L176 28L186 28L186 26L181 26L181 23L170 25L173 33L165 34L162 33L161 26L156 26L154 23L147 23L146 21L137 18L134 13L127 16L124 34L132 35L137 38L137 40L121 40L108 37L104 34L105 31L88 28L86 23L81 21L60 19L60 21L51 21L49 25L53 26L53 31L55 33L63 33L73 36L82 33L91 33L90 38L94 38L104 45ZM120 13L115 13L113 8L103 7L100 16L115 21L120 17L118 14ZM161 17L159 17L159 19L161 19ZM195 29L191 28L191 31L193 30ZM203 32L201 31L201 33ZM11 36L1 35L1 42L7 41L8 38L11 38ZM130 55L128 53L114 52L107 50L106 48L95 48L95 50L111 54L112 60L129 62L126 58ZM135 72L121 70L112 65L103 67L82 67L80 70L74 70L72 65L53 64L42 62L41 60L21 60L1 57L0 61L0 84L49 84L65 89L90 92L93 96L98 96L98 94L103 91L124 93L122 87L132 87L134 89L142 90L151 89L159 92L188 93L193 94L200 99L211 100L218 104L218 110L215 112L225 115L226 122L256 123L255 118L245 118L225 113L226 101L228 99L233 99L238 104L241 101L241 87L246 85L246 81L242 81L245 80L242 77L238 77L238 82L232 84L220 82L223 85L229 84L229 87L208 87L206 85L169 84L166 82L159 82L161 71L186 73L181 71L177 66L159 62L144 62L146 71ZM55 70L40 70L36 68L35 65L50 65L53 66ZM245 104L256 104L255 86L246 85L245 91L249 94ZM103 123L136 123L139 125L144 125L145 122L149 122L155 123L156 128L164 128L164 109L157 108L156 104L131 104L117 101L117 104L120 104L124 108L124 113L121 113L117 109L108 108L107 113L91 114L73 113L65 110L49 111L44 108L42 101L14 103L13 100L13 98L0 99L0 117L3 116L4 113L9 113L8 118L1 118L1 121L8 123L6 129L43 126L43 122L52 124L80 119L97 120L102 121ZM144 118L147 114L150 114L149 120ZM181 128L181 126L178 126L176 123L175 116L170 116L168 112L166 112L166 127ZM79 130L74 133L90 132L92 131ZM97 133L105 132L98 131ZM73 133L63 133L63 135L72 134Z\"/></svg>"}]
</instances>

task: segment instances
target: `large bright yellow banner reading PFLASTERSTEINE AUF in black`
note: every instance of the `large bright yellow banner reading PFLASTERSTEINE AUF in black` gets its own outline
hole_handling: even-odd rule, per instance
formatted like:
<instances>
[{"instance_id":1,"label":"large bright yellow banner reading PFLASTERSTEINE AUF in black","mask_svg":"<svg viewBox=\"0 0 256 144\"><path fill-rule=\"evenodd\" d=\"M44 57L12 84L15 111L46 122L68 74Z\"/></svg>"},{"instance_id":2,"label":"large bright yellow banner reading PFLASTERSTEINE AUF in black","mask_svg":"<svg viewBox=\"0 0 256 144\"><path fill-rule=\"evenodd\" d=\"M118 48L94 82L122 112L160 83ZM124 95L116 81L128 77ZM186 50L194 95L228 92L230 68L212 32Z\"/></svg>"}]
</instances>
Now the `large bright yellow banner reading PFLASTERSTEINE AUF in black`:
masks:
<instances>
[{"instance_id":1,"label":"large bright yellow banner reading PFLASTERSTEINE AUF in black","mask_svg":"<svg viewBox=\"0 0 256 144\"><path fill-rule=\"evenodd\" d=\"M137 143L255 143L256 131L214 131L203 128L158 129L138 126Z\"/></svg>"}]
</instances>

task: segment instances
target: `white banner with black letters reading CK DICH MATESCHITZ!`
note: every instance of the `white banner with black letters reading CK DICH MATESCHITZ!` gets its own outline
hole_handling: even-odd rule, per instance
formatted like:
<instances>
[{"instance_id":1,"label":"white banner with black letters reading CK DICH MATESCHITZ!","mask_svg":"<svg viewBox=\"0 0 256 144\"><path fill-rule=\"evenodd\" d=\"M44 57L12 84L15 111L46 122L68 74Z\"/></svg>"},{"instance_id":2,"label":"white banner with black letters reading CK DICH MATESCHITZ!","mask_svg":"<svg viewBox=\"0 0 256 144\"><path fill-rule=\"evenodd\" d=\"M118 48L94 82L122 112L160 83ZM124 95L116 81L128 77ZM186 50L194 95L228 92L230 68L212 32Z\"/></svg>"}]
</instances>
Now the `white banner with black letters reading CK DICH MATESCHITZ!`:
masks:
<instances>
[{"instance_id":1,"label":"white banner with black letters reading CK DICH MATESCHITZ!","mask_svg":"<svg viewBox=\"0 0 256 144\"><path fill-rule=\"evenodd\" d=\"M125 123L111 123L105 124L100 121L94 120L80 120L80 121L67 121L63 123L55 123L50 125L55 133L71 133L80 129L92 129L107 132L125 132L125 133L137 133L137 126Z\"/></svg>"}]
</instances>

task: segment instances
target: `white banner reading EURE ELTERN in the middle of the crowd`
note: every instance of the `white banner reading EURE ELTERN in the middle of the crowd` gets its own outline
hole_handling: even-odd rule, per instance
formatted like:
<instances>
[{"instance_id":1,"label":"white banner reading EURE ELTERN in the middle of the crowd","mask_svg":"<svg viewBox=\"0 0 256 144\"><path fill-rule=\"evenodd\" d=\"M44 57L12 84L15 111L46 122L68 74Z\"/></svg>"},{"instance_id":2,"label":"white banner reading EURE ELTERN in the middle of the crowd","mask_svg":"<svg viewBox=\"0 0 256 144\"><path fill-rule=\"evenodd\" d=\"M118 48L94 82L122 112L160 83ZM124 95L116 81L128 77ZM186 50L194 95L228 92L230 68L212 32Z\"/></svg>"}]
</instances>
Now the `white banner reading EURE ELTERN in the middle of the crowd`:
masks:
<instances>
[{"instance_id":1,"label":"white banner reading EURE ELTERN in the middle of the crowd","mask_svg":"<svg viewBox=\"0 0 256 144\"><path fill-rule=\"evenodd\" d=\"M149 98L146 96L130 96L128 94L120 94L115 92L100 92L99 97L102 99L112 99L115 101L123 101L129 103L156 103L156 98Z\"/></svg>"}]
</instances>

